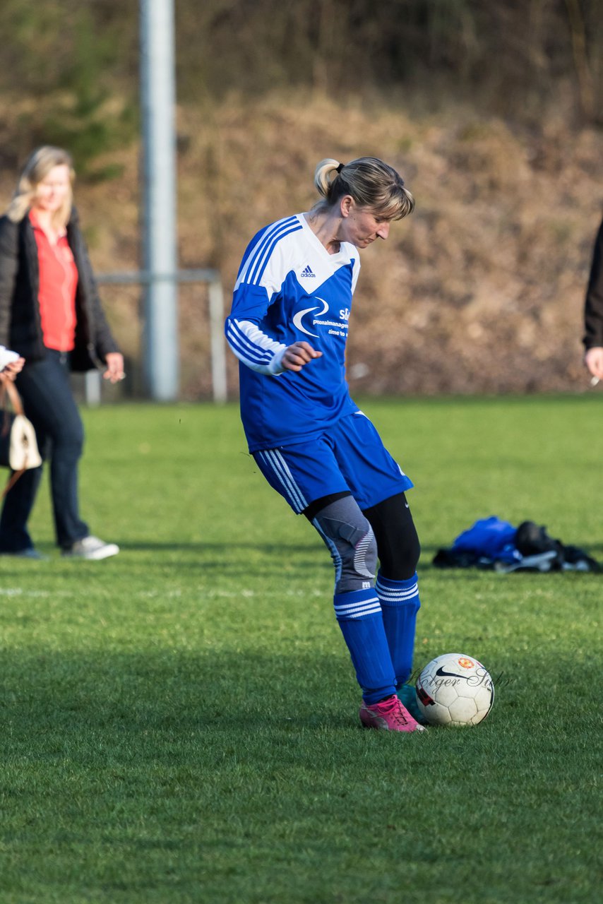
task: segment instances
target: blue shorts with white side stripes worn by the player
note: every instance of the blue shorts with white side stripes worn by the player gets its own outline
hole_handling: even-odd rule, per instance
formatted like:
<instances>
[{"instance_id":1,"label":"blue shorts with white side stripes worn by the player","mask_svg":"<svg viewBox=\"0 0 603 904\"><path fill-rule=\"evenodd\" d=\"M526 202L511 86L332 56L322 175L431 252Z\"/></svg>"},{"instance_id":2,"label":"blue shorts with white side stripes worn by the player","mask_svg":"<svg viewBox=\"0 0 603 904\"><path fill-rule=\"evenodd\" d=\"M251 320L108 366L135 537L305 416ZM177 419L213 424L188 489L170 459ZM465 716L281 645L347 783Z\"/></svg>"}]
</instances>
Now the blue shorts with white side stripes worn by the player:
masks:
<instances>
[{"instance_id":1,"label":"blue shorts with white side stripes worn by the player","mask_svg":"<svg viewBox=\"0 0 603 904\"><path fill-rule=\"evenodd\" d=\"M316 499L346 492L367 509L412 486L362 411L346 415L315 438L263 449L253 457L269 485L297 514Z\"/></svg>"}]
</instances>

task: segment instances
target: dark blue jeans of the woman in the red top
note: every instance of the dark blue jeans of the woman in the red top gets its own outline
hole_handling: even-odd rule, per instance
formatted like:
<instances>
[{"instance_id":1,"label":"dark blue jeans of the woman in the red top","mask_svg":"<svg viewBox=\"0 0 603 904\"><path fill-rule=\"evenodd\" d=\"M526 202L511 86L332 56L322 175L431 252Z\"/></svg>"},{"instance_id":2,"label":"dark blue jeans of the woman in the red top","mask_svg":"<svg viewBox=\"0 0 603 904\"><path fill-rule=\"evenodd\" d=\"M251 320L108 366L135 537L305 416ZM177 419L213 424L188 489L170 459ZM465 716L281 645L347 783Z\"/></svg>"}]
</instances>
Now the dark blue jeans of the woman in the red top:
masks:
<instances>
[{"instance_id":1,"label":"dark blue jeans of the woman in the red top","mask_svg":"<svg viewBox=\"0 0 603 904\"><path fill-rule=\"evenodd\" d=\"M25 415L35 428L40 454L50 461L52 511L56 539L68 549L89 534L78 504L78 461L84 429L71 392L69 355L46 349L42 361L25 363L16 380ZM42 466L19 477L6 494L0 515L0 551L18 552L33 546L27 531Z\"/></svg>"}]
</instances>

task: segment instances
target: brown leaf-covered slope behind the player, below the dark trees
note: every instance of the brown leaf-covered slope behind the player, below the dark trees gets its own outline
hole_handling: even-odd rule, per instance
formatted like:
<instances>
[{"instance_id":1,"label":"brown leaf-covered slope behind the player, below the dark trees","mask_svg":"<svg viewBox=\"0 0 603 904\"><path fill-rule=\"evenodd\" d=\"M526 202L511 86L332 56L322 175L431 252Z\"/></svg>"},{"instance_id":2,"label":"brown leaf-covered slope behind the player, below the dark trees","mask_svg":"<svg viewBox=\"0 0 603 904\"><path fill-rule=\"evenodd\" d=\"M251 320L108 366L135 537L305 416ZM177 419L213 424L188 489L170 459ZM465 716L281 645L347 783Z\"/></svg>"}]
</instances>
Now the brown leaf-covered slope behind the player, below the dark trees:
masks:
<instances>
[{"instance_id":1,"label":"brown leaf-covered slope behind the player, below the dark trees","mask_svg":"<svg viewBox=\"0 0 603 904\"><path fill-rule=\"evenodd\" d=\"M415 104L415 107L417 105ZM355 393L581 391L581 317L602 212L600 129L547 115L513 127L457 104L438 115L405 100L334 102L298 90L178 111L182 267L221 269L226 303L260 226L315 200L325 156L378 155L417 201L387 242L363 254L348 372ZM139 261L138 149L107 155L110 183L77 201L97 271ZM3 203L14 173L3 170ZM137 291L104 287L136 368ZM181 299L184 398L210 393L205 290ZM236 392L236 363L229 363Z\"/></svg>"}]
</instances>

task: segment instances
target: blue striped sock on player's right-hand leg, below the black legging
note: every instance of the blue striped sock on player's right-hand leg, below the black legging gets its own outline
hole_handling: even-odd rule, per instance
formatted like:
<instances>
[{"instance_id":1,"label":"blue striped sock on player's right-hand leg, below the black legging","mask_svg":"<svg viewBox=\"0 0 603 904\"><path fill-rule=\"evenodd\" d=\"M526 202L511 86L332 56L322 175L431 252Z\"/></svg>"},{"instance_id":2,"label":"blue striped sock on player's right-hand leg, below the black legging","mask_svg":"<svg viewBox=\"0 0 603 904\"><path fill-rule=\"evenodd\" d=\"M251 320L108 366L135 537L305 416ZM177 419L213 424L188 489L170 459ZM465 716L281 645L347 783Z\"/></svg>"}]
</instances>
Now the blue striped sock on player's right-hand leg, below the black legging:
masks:
<instances>
[{"instance_id":1,"label":"blue striped sock on player's right-hand leg, below the black legging","mask_svg":"<svg viewBox=\"0 0 603 904\"><path fill-rule=\"evenodd\" d=\"M383 625L390 647L391 662L400 687L412 671L415 628L419 611L419 586L416 573L408 580L377 575L375 589L382 605Z\"/></svg>"}]
</instances>

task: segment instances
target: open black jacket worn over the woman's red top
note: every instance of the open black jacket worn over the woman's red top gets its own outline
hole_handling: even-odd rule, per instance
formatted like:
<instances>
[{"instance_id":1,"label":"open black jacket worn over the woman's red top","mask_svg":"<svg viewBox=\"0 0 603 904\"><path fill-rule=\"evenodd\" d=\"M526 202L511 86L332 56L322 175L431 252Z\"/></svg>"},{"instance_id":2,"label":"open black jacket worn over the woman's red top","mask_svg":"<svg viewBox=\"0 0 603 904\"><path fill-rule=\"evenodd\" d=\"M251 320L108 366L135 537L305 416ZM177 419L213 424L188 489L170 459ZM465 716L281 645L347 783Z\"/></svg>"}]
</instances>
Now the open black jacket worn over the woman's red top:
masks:
<instances>
[{"instance_id":1,"label":"open black jacket worn over the woman's red top","mask_svg":"<svg viewBox=\"0 0 603 904\"><path fill-rule=\"evenodd\" d=\"M90 371L105 363L105 355L119 349L100 306L75 210L67 225L67 240L78 268L77 325L71 368ZM38 291L38 249L29 217L25 216L19 223L0 217L0 344L30 362L44 356Z\"/></svg>"}]
</instances>

